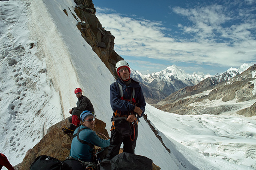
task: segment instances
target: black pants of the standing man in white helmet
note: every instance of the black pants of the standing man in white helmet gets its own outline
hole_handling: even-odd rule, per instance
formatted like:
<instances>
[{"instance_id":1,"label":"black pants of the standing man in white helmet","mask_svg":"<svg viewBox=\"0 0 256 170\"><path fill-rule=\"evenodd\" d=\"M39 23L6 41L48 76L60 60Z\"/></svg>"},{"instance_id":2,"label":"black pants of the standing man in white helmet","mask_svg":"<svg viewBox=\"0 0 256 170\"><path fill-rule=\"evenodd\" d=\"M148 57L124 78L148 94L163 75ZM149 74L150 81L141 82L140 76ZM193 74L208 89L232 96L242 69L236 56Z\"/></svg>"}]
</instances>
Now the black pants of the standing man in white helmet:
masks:
<instances>
[{"instance_id":1,"label":"black pants of the standing man in white helmet","mask_svg":"<svg viewBox=\"0 0 256 170\"><path fill-rule=\"evenodd\" d=\"M134 130L134 129L132 129ZM134 138L134 133L132 133L131 138ZM123 138L120 133L118 133L115 129L111 131L110 137L110 147L108 148L107 159L112 159L114 156L119 154L120 147L122 143L124 143L124 151L134 154L134 150L136 147L136 141L138 138L138 125L135 125L135 139L132 141L130 136Z\"/></svg>"}]
</instances>

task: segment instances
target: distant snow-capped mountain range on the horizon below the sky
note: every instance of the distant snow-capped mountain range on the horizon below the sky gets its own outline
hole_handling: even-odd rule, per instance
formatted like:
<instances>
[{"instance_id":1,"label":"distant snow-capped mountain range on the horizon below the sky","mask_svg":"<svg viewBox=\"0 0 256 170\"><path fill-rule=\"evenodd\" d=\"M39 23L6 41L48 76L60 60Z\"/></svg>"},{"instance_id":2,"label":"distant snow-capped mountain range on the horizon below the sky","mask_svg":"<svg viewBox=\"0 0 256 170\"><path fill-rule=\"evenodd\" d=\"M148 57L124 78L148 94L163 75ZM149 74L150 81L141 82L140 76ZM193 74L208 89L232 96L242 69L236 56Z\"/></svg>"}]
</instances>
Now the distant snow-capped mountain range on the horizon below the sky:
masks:
<instances>
[{"instance_id":1,"label":"distant snow-capped mountain range on the horizon below the sky","mask_svg":"<svg viewBox=\"0 0 256 170\"><path fill-rule=\"evenodd\" d=\"M154 105L184 87L195 86L206 79L208 84L204 84L204 86L213 86L230 80L230 78L242 73L247 68L249 68L249 65L243 64L238 69L230 68L226 72L212 76L210 74L187 74L178 66L172 65L152 74L141 74L139 71L132 70L131 77L142 83L146 102Z\"/></svg>"}]
</instances>

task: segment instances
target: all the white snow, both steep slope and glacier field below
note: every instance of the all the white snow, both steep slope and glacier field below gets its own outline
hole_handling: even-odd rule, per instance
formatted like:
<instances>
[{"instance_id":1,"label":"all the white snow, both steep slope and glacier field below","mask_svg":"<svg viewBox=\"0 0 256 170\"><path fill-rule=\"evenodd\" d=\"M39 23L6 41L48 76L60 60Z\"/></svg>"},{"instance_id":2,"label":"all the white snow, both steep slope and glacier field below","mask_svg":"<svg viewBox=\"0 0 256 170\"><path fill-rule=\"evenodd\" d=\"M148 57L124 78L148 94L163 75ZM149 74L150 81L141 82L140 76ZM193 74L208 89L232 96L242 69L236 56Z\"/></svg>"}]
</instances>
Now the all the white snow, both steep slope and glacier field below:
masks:
<instances>
[{"instance_id":1,"label":"all the white snow, both steep slope and glacier field below","mask_svg":"<svg viewBox=\"0 0 256 170\"><path fill-rule=\"evenodd\" d=\"M75 6L72 0L0 1L0 150L13 165L51 125L70 116L76 87L110 129L114 78L76 28ZM145 113L171 153L144 119L135 152L162 170L256 168L254 120L174 115L148 104Z\"/></svg>"}]
</instances>

